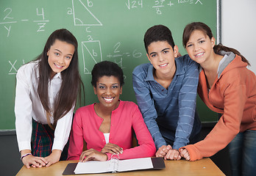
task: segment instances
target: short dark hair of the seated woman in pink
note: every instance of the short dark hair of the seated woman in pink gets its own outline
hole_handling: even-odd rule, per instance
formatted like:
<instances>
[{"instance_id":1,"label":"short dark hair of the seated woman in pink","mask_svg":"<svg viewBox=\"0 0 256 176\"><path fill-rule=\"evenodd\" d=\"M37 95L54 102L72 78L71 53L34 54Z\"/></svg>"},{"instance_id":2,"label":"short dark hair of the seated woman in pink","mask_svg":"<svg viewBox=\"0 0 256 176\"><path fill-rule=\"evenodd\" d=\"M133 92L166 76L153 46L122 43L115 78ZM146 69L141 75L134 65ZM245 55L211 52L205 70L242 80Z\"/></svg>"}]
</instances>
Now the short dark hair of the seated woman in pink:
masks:
<instances>
[{"instance_id":1,"label":"short dark hair of the seated woman in pink","mask_svg":"<svg viewBox=\"0 0 256 176\"><path fill-rule=\"evenodd\" d=\"M124 73L121 67L114 62L102 61L94 65L91 71L91 84L96 87L97 81L102 76L115 76L120 82L120 86L124 85Z\"/></svg>"}]
</instances>

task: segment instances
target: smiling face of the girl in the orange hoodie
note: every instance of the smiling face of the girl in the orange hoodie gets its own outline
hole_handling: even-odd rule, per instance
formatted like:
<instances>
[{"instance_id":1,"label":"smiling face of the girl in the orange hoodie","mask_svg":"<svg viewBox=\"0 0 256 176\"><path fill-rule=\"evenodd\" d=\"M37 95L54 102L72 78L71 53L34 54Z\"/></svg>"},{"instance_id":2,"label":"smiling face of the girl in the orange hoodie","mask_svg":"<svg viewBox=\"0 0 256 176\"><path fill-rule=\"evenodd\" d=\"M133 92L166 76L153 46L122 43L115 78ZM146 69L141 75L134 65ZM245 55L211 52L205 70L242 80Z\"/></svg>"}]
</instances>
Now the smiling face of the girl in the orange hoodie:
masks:
<instances>
[{"instance_id":1,"label":"smiling face of the girl in the orange hoodie","mask_svg":"<svg viewBox=\"0 0 256 176\"><path fill-rule=\"evenodd\" d=\"M189 37L188 43L186 43L185 48L191 59L199 64L203 64L213 56L214 45L214 37L210 39L207 34L205 34L205 32L195 30L191 33L191 37Z\"/></svg>"}]
</instances>

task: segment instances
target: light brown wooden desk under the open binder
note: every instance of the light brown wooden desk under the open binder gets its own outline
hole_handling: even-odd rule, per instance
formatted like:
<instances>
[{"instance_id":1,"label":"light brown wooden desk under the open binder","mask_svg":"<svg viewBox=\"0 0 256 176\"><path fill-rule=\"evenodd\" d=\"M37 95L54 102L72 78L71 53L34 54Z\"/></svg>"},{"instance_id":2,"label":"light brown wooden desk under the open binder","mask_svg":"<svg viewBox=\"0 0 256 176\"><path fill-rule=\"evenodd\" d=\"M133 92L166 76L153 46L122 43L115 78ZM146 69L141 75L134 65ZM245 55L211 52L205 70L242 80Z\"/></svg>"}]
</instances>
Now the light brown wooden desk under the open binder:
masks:
<instances>
[{"instance_id":1,"label":"light brown wooden desk under the open binder","mask_svg":"<svg viewBox=\"0 0 256 176\"><path fill-rule=\"evenodd\" d=\"M63 175L65 167L69 163L76 163L77 161L60 161L57 164L53 164L49 167L42 168L30 168L26 169L25 166L21 168L17 176L40 176L40 175ZM210 160L210 158L204 158L199 161L165 161L166 169L162 170L141 170L141 171L132 171L132 172L119 172L119 173L107 173L107 174L98 174L99 176L119 176L119 175L224 175L220 169ZM88 175L89 176L89 175Z\"/></svg>"}]
</instances>

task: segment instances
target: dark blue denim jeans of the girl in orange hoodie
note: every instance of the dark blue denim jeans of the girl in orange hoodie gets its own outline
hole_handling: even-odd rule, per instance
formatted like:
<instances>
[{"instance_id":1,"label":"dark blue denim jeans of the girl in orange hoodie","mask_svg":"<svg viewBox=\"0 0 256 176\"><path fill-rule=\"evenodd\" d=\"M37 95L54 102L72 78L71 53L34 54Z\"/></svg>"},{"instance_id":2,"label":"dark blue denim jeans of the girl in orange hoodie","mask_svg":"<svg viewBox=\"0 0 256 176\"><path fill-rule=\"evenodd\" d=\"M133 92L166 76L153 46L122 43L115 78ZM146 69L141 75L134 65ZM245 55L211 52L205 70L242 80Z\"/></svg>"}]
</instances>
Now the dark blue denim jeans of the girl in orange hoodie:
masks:
<instances>
[{"instance_id":1,"label":"dark blue denim jeans of the girl in orange hoodie","mask_svg":"<svg viewBox=\"0 0 256 176\"><path fill-rule=\"evenodd\" d=\"M256 131L238 133L229 150L232 176L256 175Z\"/></svg>"}]
</instances>

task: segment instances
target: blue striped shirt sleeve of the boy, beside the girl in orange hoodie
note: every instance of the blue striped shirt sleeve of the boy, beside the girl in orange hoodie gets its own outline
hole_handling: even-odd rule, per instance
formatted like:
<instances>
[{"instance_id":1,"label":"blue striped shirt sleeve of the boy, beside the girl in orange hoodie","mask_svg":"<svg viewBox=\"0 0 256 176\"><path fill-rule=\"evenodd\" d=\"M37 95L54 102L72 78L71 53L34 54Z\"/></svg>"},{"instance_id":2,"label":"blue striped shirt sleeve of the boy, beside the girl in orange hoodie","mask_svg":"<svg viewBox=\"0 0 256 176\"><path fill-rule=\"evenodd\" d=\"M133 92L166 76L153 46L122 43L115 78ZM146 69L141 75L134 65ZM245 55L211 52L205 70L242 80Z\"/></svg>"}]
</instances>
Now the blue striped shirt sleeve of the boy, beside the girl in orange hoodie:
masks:
<instances>
[{"instance_id":1,"label":"blue striped shirt sleeve of the boy, beside the girl in orange hoodie","mask_svg":"<svg viewBox=\"0 0 256 176\"><path fill-rule=\"evenodd\" d=\"M185 76L179 91L179 121L175 133L173 149L179 149L189 143L196 111L196 91L199 82L199 69L188 55L183 57Z\"/></svg>"}]
</instances>

